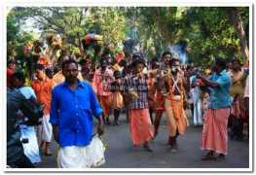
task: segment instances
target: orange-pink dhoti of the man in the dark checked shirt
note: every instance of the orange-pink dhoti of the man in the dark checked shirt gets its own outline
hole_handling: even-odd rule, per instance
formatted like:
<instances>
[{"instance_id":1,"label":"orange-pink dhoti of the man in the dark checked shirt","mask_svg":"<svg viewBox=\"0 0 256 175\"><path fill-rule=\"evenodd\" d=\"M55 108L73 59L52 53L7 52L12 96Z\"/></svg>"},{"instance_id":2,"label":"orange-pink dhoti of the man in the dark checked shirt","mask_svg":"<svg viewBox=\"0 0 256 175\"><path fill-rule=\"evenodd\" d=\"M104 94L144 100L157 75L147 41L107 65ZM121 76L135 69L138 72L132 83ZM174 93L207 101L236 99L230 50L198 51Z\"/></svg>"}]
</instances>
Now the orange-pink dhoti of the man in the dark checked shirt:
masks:
<instances>
[{"instance_id":1,"label":"orange-pink dhoti of the man in the dark checked shirt","mask_svg":"<svg viewBox=\"0 0 256 175\"><path fill-rule=\"evenodd\" d=\"M148 109L131 109L128 111L128 116L133 145L143 145L154 137L154 128L150 121Z\"/></svg>"}]
</instances>

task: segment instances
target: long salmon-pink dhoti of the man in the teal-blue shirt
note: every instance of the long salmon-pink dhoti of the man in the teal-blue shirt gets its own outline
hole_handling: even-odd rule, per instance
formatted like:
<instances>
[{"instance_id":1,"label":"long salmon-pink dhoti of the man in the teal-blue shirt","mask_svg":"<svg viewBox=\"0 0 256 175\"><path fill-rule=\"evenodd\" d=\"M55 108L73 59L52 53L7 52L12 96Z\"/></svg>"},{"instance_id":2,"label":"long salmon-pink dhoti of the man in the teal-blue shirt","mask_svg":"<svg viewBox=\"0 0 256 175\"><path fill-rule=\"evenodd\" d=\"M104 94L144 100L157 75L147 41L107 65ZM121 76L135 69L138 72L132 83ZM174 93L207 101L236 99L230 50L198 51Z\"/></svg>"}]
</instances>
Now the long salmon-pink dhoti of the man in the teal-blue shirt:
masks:
<instances>
[{"instance_id":1,"label":"long salmon-pink dhoti of the man in the teal-blue shirt","mask_svg":"<svg viewBox=\"0 0 256 175\"><path fill-rule=\"evenodd\" d=\"M227 125L230 109L207 109L202 129L201 150L227 155Z\"/></svg>"}]
</instances>

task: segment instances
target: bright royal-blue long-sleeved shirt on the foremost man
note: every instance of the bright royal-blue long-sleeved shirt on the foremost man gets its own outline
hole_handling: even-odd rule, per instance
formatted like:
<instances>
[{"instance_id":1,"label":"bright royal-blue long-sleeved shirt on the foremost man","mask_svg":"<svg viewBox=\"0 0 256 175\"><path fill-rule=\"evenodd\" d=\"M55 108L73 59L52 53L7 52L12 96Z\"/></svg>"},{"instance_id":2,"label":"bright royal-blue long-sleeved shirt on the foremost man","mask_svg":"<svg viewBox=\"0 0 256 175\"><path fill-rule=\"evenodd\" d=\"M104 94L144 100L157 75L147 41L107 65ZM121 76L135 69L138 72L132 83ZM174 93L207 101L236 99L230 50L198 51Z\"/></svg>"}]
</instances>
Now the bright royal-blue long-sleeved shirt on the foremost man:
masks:
<instances>
[{"instance_id":1,"label":"bright royal-blue long-sleeved shirt on the foremost man","mask_svg":"<svg viewBox=\"0 0 256 175\"><path fill-rule=\"evenodd\" d=\"M53 89L50 123L58 125L60 147L87 146L93 134L92 116L98 118L102 109L87 82L78 80L72 90L66 82Z\"/></svg>"}]
</instances>

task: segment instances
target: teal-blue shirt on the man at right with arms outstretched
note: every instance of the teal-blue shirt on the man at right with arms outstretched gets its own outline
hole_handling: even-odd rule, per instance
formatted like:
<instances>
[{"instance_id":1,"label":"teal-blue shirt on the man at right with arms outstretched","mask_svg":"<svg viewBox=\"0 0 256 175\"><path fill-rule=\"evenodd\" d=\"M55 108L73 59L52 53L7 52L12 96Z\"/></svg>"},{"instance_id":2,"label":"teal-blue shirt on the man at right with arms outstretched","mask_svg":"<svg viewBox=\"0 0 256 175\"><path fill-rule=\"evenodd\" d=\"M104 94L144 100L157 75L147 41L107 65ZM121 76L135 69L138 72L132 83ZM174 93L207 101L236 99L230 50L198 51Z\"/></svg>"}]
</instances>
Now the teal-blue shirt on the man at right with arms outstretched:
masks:
<instances>
[{"instance_id":1,"label":"teal-blue shirt on the man at right with arms outstretched","mask_svg":"<svg viewBox=\"0 0 256 175\"><path fill-rule=\"evenodd\" d=\"M231 77L226 70L219 75L214 73L209 77L209 81L218 83L217 88L210 88L209 109L229 108L232 104L230 96Z\"/></svg>"}]
</instances>

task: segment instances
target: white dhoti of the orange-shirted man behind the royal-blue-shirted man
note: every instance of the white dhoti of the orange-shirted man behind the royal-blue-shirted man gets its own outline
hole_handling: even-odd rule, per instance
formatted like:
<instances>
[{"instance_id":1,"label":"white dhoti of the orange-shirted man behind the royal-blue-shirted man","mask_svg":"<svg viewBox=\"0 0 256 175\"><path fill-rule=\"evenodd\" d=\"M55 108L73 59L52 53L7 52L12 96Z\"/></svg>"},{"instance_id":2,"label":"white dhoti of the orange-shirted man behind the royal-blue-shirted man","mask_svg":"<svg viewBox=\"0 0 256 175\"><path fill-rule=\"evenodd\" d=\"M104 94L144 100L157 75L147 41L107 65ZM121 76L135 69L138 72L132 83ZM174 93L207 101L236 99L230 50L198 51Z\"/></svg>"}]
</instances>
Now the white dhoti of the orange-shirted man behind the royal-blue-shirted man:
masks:
<instances>
[{"instance_id":1,"label":"white dhoti of the orange-shirted man behind the royal-blue-shirted man","mask_svg":"<svg viewBox=\"0 0 256 175\"><path fill-rule=\"evenodd\" d=\"M53 126L49 122L50 115L44 115L42 124L39 127L39 133L42 141L51 142L53 136Z\"/></svg>"}]
</instances>

